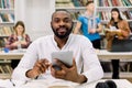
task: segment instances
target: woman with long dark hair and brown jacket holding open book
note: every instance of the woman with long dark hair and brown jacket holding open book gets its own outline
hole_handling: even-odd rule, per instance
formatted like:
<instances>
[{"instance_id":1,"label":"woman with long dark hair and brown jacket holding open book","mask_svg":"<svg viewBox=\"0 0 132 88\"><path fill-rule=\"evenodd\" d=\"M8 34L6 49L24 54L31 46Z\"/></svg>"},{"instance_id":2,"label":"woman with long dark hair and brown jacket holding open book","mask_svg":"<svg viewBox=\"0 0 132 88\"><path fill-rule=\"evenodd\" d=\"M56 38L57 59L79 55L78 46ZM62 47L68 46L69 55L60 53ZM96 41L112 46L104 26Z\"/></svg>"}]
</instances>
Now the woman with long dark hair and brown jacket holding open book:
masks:
<instances>
[{"instance_id":1,"label":"woman with long dark hair and brown jacket holding open book","mask_svg":"<svg viewBox=\"0 0 132 88\"><path fill-rule=\"evenodd\" d=\"M112 42L117 40L125 40L130 35L129 23L121 18L120 11L118 8L111 10L111 20L108 23L108 30L106 32L106 37L108 41L107 50L111 51ZM112 31L111 31L112 30ZM119 78L119 59L112 59L113 75L112 78Z\"/></svg>"}]
</instances>

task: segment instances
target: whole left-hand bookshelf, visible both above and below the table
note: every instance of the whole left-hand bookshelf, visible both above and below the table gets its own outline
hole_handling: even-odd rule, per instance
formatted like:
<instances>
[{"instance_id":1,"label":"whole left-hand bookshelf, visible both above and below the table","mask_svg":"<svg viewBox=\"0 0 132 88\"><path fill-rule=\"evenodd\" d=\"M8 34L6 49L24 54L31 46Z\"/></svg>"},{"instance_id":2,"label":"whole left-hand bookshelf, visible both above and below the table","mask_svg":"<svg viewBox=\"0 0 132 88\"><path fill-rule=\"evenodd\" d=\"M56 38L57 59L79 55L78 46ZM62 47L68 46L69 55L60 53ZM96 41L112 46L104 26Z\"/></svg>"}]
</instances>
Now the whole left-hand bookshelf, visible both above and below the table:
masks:
<instances>
[{"instance_id":1,"label":"whole left-hand bookshelf, visible both above and below the table","mask_svg":"<svg viewBox=\"0 0 132 88\"><path fill-rule=\"evenodd\" d=\"M14 25L14 0L0 0L0 53L6 41L13 33ZM9 78L12 68L11 61L0 58L0 78Z\"/></svg>"}]
</instances>

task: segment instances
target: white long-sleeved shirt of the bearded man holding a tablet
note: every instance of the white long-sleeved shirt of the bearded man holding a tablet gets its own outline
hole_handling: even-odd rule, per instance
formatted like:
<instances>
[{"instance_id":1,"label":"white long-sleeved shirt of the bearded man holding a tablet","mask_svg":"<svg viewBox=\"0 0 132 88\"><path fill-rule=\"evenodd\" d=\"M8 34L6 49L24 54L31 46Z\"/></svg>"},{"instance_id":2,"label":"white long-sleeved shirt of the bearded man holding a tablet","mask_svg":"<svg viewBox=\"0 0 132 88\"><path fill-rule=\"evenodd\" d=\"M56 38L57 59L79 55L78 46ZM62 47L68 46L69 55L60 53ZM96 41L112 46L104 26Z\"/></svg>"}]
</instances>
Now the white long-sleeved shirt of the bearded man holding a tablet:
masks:
<instances>
[{"instance_id":1,"label":"white long-sleeved shirt of the bearded man holding a tablet","mask_svg":"<svg viewBox=\"0 0 132 88\"><path fill-rule=\"evenodd\" d=\"M54 35L47 35L34 41L22 57L20 64L12 74L13 79L29 80L25 73L32 69L37 59L46 58L52 62L52 52L73 51L79 74L88 78L88 82L98 80L103 76L99 59L90 41L82 35L70 34L66 44L61 50ZM38 76L38 78L54 78L51 70ZM55 79L55 78L54 78Z\"/></svg>"}]
</instances>

